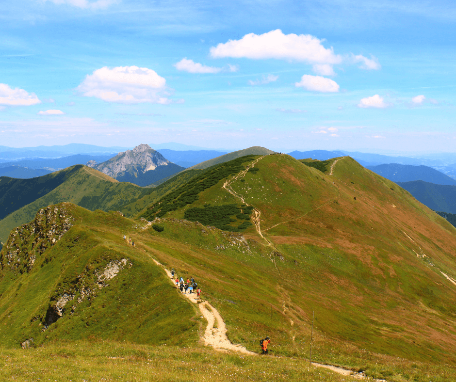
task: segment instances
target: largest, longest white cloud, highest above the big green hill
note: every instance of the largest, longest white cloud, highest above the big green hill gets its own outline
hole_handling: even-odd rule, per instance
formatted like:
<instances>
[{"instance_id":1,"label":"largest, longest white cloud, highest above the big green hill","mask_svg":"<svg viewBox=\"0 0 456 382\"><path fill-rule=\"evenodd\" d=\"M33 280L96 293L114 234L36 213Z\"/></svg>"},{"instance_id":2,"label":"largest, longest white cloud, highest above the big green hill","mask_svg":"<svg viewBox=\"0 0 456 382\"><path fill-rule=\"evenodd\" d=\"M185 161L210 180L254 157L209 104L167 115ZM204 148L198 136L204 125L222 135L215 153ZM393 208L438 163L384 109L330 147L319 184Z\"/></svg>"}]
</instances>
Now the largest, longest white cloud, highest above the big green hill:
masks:
<instances>
[{"instance_id":1,"label":"largest, longest white cloud, highest above the big green hill","mask_svg":"<svg viewBox=\"0 0 456 382\"><path fill-rule=\"evenodd\" d=\"M325 48L323 40L310 34L283 34L281 30L244 35L240 40L229 40L211 48L213 58L250 58L296 60L310 64L339 64L340 55L334 54L333 48Z\"/></svg>"}]
</instances>

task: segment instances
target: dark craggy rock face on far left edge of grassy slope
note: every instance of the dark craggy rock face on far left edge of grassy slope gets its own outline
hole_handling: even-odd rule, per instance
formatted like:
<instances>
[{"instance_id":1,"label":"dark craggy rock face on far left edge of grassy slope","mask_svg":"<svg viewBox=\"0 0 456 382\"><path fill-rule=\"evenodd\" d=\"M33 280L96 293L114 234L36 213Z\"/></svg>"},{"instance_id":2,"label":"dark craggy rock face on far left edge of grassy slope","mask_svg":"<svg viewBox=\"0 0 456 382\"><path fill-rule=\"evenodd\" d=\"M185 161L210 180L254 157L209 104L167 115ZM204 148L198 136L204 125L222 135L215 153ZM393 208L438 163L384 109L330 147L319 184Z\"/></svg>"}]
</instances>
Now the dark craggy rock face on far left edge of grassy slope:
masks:
<instances>
[{"instance_id":1,"label":"dark craggy rock face on far left edge of grassy slope","mask_svg":"<svg viewBox=\"0 0 456 382\"><path fill-rule=\"evenodd\" d=\"M13 271L30 271L37 256L64 236L74 218L65 203L40 209L32 223L13 230L0 255L0 266Z\"/></svg>"}]
</instances>

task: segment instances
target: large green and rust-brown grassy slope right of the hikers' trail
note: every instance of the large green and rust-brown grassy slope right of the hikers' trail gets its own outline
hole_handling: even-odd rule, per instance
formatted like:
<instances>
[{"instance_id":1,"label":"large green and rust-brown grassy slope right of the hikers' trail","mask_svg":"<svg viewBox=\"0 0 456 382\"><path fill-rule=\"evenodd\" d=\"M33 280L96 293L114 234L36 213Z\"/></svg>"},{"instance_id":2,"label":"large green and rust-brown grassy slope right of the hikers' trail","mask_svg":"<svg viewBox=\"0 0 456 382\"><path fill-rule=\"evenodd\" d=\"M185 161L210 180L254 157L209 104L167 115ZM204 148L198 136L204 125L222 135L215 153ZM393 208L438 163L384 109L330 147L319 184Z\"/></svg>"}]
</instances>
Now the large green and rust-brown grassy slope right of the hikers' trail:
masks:
<instances>
[{"instance_id":1,"label":"large green and rust-brown grassy slope right of the hikers' trail","mask_svg":"<svg viewBox=\"0 0 456 382\"><path fill-rule=\"evenodd\" d=\"M292 333L308 328L315 311L319 331L331 338L400 357L455 362L456 287L443 275L456 279L450 223L349 157L337 161L333 175L330 166L324 174L289 156L266 156L255 167L258 172L231 185L261 212L266 239L253 225L247 228L244 237L254 241L245 254L210 255L203 248L217 248L215 242L192 254L171 240L185 238L191 247L204 238L200 228L190 237L190 227L173 223L189 208L242 206L222 189L225 179L162 217L162 237L169 240L162 261L179 258L183 269L204 277L232 338L274 333L292 346ZM224 302L228 295L235 303Z\"/></svg>"}]
</instances>

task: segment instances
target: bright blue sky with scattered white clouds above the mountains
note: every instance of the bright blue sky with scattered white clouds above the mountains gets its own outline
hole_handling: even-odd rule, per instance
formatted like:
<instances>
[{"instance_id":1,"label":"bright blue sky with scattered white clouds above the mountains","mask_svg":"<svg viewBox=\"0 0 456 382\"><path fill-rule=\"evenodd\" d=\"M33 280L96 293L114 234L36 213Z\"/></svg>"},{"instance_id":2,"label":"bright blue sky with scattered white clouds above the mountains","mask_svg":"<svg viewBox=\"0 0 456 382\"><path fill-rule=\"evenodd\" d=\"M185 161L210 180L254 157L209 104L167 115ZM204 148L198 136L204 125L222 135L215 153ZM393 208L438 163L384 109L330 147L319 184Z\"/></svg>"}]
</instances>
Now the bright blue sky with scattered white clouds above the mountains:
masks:
<instances>
[{"instance_id":1,"label":"bright blue sky with scattered white clouds above the mountains","mask_svg":"<svg viewBox=\"0 0 456 382\"><path fill-rule=\"evenodd\" d=\"M455 1L0 4L0 145L456 152Z\"/></svg>"}]
</instances>

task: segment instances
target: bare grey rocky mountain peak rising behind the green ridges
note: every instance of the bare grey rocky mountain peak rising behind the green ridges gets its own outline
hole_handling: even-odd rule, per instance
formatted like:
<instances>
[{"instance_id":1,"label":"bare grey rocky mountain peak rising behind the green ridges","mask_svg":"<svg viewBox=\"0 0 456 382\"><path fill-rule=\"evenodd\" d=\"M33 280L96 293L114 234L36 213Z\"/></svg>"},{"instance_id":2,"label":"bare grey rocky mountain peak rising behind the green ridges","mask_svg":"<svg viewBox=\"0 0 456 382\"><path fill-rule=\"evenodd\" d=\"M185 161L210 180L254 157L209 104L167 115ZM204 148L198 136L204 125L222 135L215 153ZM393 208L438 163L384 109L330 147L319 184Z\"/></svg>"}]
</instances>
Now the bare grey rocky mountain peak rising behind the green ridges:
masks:
<instances>
[{"instance_id":1,"label":"bare grey rocky mountain peak rising behind the green ridges","mask_svg":"<svg viewBox=\"0 0 456 382\"><path fill-rule=\"evenodd\" d=\"M144 143L133 150L118 153L114 158L99 164L90 161L87 166L120 182L131 182L138 186L147 186L185 170L184 167L170 162L158 151Z\"/></svg>"}]
</instances>

